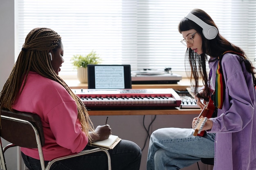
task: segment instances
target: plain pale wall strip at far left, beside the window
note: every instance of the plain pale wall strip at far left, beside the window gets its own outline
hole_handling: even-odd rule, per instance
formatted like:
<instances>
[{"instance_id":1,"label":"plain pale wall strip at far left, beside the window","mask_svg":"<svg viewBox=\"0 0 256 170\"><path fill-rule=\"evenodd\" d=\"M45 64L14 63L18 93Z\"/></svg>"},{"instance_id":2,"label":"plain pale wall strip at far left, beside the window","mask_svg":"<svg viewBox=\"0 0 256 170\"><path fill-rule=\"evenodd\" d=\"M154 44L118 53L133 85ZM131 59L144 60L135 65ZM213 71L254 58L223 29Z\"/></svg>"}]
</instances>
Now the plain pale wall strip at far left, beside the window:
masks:
<instances>
[{"instance_id":1,"label":"plain pale wall strip at far left, beside the window","mask_svg":"<svg viewBox=\"0 0 256 170\"><path fill-rule=\"evenodd\" d=\"M15 61L14 0L0 0L0 26L0 89L2 90ZM3 141L3 144L6 143ZM17 169L16 155L16 148L6 153L9 170Z\"/></svg>"}]
</instances>

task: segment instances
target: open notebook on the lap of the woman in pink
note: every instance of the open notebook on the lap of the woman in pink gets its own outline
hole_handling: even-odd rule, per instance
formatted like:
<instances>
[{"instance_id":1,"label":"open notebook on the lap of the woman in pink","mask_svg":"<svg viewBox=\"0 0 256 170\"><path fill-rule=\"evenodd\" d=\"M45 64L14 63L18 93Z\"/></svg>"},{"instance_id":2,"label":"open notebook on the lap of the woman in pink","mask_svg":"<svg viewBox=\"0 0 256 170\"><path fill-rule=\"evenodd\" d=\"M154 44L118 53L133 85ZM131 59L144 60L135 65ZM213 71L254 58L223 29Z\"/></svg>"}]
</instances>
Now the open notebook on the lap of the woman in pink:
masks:
<instances>
[{"instance_id":1,"label":"open notebook on the lap of the woman in pink","mask_svg":"<svg viewBox=\"0 0 256 170\"><path fill-rule=\"evenodd\" d=\"M110 135L108 139L103 141L92 142L92 146L109 150L115 148L119 141L121 141L121 138L116 135Z\"/></svg>"}]
</instances>

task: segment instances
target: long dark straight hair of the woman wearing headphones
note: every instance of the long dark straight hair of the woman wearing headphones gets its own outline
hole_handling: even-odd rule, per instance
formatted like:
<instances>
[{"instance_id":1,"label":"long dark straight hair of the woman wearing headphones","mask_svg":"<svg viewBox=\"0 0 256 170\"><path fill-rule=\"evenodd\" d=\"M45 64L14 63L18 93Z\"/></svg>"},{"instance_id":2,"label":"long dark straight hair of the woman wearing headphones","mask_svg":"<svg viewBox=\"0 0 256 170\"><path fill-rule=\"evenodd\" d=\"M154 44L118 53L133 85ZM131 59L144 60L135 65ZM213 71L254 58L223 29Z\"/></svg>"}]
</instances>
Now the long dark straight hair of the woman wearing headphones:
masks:
<instances>
[{"instance_id":1,"label":"long dark straight hair of the woman wearing headphones","mask_svg":"<svg viewBox=\"0 0 256 170\"><path fill-rule=\"evenodd\" d=\"M201 20L203 20L205 23L216 26L216 24L213 22L211 17L203 10L201 9L193 9L190 13L194 14ZM191 29L195 29L197 33L202 38L202 54L197 54L190 48L186 50L186 74L190 78L191 86L195 92L195 95L205 99L206 101L209 101L209 96L211 95L211 90L208 82L208 74L206 69L206 64L208 61L208 55L212 58L216 58L220 56L225 51L234 51L236 53L242 54L240 56L241 60L245 63L246 69L249 73L252 73L254 86L256 86L256 79L254 77L254 67L252 66L252 63L245 57L245 52L240 49L238 46L235 46L234 44L231 44L228 40L226 40L224 37L222 37L219 33L216 36L216 38L212 40L208 40L204 37L202 33L202 28L196 24L195 22L183 18L180 21L180 24L178 26L179 32L182 33L182 31L188 31ZM218 29L218 28L217 28ZM202 94L199 94L198 87L199 87L199 79L202 79L204 84L204 92Z\"/></svg>"}]
</instances>

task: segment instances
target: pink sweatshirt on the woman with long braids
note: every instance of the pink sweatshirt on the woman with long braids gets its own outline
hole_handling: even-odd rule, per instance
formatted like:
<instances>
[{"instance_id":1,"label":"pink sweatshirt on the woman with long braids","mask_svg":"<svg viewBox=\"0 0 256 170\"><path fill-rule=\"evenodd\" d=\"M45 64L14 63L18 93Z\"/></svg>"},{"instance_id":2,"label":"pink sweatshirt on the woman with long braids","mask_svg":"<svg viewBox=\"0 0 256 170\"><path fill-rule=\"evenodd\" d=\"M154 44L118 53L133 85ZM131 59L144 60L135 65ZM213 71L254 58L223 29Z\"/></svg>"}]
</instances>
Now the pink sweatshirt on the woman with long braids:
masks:
<instances>
[{"instance_id":1,"label":"pink sweatshirt on the woman with long braids","mask_svg":"<svg viewBox=\"0 0 256 170\"><path fill-rule=\"evenodd\" d=\"M30 71L13 109L36 113L41 117L45 135L43 155L46 161L80 152L88 144L88 137L82 132L77 118L76 102L58 82ZM37 149L21 148L21 151L39 159Z\"/></svg>"}]
</instances>

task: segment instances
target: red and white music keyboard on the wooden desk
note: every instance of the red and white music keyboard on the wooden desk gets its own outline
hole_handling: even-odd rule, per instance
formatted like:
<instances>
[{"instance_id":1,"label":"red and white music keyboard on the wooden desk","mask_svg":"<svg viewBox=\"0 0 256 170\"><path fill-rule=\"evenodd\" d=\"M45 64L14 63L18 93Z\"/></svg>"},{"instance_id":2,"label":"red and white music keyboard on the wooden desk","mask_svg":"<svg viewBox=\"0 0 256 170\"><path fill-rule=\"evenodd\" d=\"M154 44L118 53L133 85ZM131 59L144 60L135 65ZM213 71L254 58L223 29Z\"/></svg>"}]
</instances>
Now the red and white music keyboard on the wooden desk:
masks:
<instances>
[{"instance_id":1,"label":"red and white music keyboard on the wooden desk","mask_svg":"<svg viewBox=\"0 0 256 170\"><path fill-rule=\"evenodd\" d=\"M72 89L88 109L174 108L181 104L172 88Z\"/></svg>"}]
</instances>

